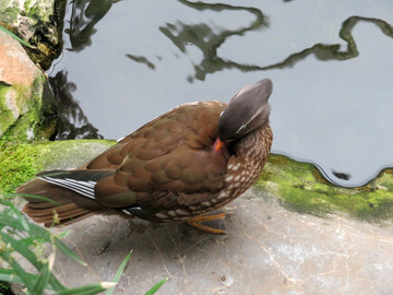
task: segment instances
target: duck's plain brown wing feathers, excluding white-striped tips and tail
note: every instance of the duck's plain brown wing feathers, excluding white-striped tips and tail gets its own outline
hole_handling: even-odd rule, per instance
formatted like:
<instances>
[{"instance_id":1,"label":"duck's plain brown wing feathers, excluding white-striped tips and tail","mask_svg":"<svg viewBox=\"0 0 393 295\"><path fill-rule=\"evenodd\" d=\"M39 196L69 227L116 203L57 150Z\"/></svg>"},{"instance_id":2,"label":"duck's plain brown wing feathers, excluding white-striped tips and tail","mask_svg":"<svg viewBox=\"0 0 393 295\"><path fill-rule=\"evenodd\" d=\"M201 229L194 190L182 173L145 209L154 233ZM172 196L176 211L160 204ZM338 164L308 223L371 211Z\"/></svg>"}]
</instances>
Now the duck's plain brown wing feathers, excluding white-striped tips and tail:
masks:
<instances>
[{"instance_id":1,"label":"duck's plain brown wing feathers, excluding white-striped tips and tail","mask_svg":"<svg viewBox=\"0 0 393 295\"><path fill-rule=\"evenodd\" d=\"M214 152L212 144L224 108L218 102L180 106L95 158L87 169L122 160L114 175L95 186L97 202L157 211L164 203L170 209L179 205L176 202L203 202L217 193L224 186L228 155Z\"/></svg>"}]
</instances>

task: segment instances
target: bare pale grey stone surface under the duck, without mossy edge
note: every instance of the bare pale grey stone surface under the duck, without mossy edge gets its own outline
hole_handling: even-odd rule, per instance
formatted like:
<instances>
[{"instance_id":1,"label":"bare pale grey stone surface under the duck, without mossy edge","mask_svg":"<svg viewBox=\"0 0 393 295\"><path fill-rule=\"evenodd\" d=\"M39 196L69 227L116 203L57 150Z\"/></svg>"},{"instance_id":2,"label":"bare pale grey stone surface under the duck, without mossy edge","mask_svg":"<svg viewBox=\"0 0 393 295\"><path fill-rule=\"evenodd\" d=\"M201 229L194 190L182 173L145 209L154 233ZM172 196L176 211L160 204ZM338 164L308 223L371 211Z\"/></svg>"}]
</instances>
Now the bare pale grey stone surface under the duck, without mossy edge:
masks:
<instances>
[{"instance_id":1,"label":"bare pale grey stone surface under the duck, without mossy edge","mask_svg":"<svg viewBox=\"0 0 393 295\"><path fill-rule=\"evenodd\" d=\"M56 272L68 286L110 281L132 249L115 294L144 294L164 278L157 294L393 293L391 226L301 215L253 190L226 209L227 236L117 216L67 226L88 267L59 255Z\"/></svg>"}]
</instances>

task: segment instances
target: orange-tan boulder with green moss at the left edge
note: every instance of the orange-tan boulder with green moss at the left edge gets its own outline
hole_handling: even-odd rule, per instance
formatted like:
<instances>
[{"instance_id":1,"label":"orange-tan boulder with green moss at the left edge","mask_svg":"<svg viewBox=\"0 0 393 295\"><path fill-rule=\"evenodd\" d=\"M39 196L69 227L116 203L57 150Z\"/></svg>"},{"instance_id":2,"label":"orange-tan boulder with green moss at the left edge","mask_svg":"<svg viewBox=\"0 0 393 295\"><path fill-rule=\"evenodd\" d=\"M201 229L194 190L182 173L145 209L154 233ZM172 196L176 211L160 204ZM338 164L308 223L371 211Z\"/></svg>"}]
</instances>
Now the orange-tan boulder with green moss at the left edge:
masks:
<instances>
[{"instance_id":1,"label":"orange-tan boulder with green moss at the left edge","mask_svg":"<svg viewBox=\"0 0 393 295\"><path fill-rule=\"evenodd\" d=\"M47 83L22 46L0 31L0 137L16 121L14 137L32 139L39 133L36 127L50 119L43 113L55 113L55 105L43 98Z\"/></svg>"}]
</instances>

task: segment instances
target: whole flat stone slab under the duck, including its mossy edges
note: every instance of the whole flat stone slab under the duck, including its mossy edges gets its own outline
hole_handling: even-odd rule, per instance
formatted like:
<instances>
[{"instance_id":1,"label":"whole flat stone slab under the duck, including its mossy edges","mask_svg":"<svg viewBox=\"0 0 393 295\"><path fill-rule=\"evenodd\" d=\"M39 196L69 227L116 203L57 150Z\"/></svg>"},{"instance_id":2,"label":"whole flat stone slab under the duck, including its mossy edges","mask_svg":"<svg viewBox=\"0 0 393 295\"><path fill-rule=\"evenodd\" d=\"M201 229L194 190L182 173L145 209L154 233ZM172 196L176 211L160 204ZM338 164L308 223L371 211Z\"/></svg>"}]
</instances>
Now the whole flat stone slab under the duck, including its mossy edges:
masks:
<instances>
[{"instance_id":1,"label":"whole flat stone slab under the duck, including its mossy edges","mask_svg":"<svg viewBox=\"0 0 393 295\"><path fill-rule=\"evenodd\" d=\"M24 149L43 151L35 157L37 167L70 168L111 144L84 140ZM392 179L386 170L365 188L337 188L310 164L271 155L257 186L225 208L234 213L227 236L184 224L93 216L50 229L70 229L66 244L87 263L59 253L55 272L67 286L111 281L132 249L115 294L144 294L165 278L157 294L391 294L393 226L376 223L390 221L391 214L365 211L382 214L370 223L354 219L361 210L347 208L356 209L357 202L361 208L362 198L377 208L389 203L383 191L392 194Z\"/></svg>"}]
</instances>

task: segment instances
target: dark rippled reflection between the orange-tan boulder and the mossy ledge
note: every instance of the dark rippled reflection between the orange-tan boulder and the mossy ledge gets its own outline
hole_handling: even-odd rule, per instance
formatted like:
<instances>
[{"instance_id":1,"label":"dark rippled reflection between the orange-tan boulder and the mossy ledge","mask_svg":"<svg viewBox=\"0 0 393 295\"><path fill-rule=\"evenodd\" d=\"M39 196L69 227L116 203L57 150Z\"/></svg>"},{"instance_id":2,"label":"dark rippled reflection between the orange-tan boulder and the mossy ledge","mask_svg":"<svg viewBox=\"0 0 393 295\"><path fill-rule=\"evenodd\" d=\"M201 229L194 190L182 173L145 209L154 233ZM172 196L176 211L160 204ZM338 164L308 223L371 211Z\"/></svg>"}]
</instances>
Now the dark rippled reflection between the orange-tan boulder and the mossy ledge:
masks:
<instances>
[{"instance_id":1,"label":"dark rippled reflection between the orange-tan boulder and the mossy ledge","mask_svg":"<svg viewBox=\"0 0 393 295\"><path fill-rule=\"evenodd\" d=\"M103 139L98 129L88 122L79 102L73 98L72 92L76 90L76 85L67 81L67 72L58 72L49 78L49 83L59 102L56 140Z\"/></svg>"}]
</instances>

